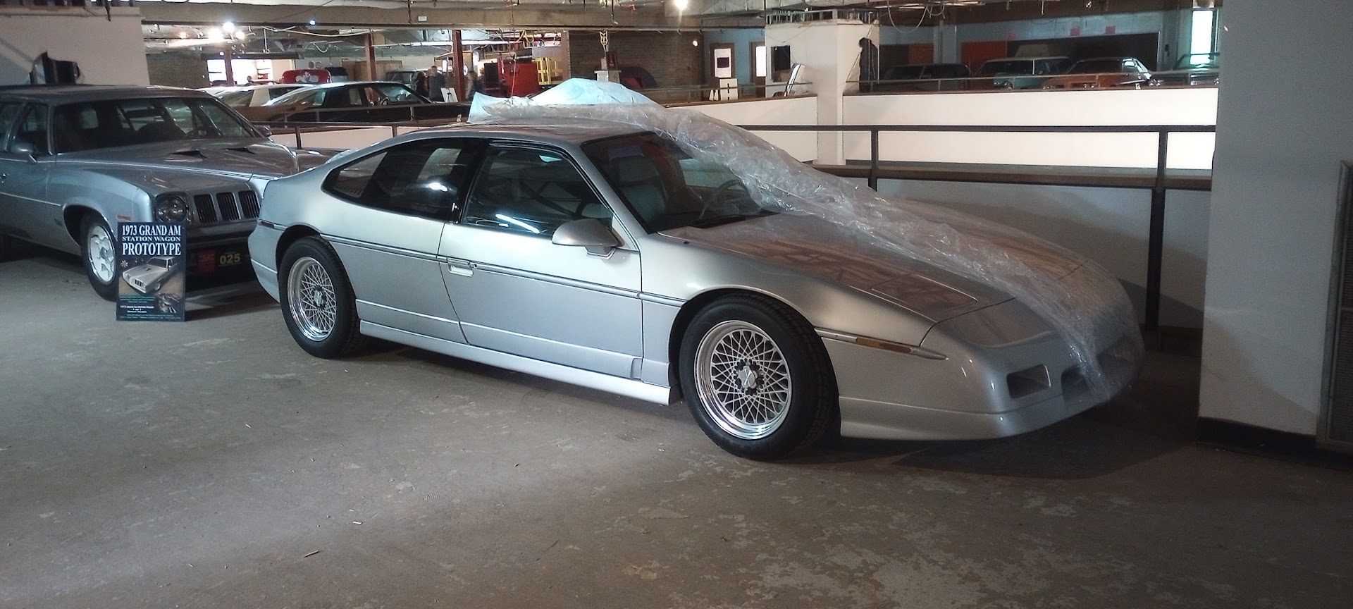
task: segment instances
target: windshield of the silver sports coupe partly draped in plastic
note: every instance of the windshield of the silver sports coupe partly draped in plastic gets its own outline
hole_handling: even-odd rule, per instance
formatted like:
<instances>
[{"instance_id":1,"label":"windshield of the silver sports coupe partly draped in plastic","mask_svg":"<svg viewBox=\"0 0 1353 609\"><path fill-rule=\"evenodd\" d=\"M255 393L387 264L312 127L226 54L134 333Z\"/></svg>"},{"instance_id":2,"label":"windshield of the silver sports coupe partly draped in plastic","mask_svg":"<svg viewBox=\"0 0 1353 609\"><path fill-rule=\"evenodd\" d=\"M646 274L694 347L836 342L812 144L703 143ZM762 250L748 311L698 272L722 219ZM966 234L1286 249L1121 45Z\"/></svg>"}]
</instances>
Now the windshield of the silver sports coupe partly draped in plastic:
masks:
<instances>
[{"instance_id":1,"label":"windshield of the silver sports coupe partly draped in plastic","mask_svg":"<svg viewBox=\"0 0 1353 609\"><path fill-rule=\"evenodd\" d=\"M727 166L693 158L652 133L590 142L583 152L653 233L773 214Z\"/></svg>"}]
</instances>

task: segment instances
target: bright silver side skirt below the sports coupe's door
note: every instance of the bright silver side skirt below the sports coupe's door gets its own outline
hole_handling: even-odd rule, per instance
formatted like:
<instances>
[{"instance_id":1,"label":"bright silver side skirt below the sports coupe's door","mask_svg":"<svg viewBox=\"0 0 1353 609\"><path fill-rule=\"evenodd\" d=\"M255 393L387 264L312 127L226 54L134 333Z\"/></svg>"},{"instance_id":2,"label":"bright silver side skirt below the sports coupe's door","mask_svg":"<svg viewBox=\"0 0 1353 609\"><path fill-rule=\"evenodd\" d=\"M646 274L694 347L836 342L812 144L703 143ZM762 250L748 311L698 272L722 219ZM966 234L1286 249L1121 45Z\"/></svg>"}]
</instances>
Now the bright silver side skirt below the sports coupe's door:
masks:
<instances>
[{"instance_id":1,"label":"bright silver side skirt below the sports coupe's door","mask_svg":"<svg viewBox=\"0 0 1353 609\"><path fill-rule=\"evenodd\" d=\"M467 345L464 342L452 342L423 334L415 334L390 326L382 326L379 323L371 323L368 321L361 322L361 333L369 337L399 342L400 345L417 346L419 349L428 349L449 355L452 357L463 357L480 364L497 365L499 368L514 369L517 372L525 372L552 380L561 380L564 383L578 384L599 391L609 391L635 399L643 399L645 402L670 403L671 401L671 388L648 384L641 380L622 379L620 376L603 375L601 372L570 368L561 364L514 356L510 353L484 349L482 346Z\"/></svg>"}]
</instances>

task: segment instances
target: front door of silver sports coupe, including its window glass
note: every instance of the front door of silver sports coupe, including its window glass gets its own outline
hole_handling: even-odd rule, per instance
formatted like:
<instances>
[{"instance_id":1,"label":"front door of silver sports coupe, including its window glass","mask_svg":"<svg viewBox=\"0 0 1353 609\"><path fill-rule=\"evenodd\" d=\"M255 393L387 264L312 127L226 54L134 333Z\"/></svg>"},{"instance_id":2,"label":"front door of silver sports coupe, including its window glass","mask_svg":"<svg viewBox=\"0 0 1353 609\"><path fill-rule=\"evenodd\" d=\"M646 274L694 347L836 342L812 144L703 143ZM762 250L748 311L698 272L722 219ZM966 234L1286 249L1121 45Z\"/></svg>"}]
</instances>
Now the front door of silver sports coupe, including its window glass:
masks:
<instances>
[{"instance_id":1,"label":"front door of silver sports coupe, including its window glass","mask_svg":"<svg viewBox=\"0 0 1353 609\"><path fill-rule=\"evenodd\" d=\"M551 242L555 229L580 218L613 221L568 154L491 145L460 222L442 233L446 291L472 345L635 378L643 356L639 252Z\"/></svg>"}]
</instances>

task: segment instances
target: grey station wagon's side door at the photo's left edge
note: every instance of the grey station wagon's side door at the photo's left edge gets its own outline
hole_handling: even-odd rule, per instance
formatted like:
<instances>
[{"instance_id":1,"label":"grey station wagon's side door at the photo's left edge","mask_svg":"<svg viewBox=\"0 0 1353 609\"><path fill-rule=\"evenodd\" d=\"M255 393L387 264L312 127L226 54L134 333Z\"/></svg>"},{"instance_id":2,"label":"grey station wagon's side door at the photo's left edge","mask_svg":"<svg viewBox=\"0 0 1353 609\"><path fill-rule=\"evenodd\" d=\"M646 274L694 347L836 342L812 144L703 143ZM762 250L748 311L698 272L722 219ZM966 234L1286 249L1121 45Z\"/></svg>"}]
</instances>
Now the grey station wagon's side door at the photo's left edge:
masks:
<instances>
[{"instance_id":1,"label":"grey station wagon's side door at the photo's left edge","mask_svg":"<svg viewBox=\"0 0 1353 609\"><path fill-rule=\"evenodd\" d=\"M0 223L19 238L70 252L73 242L65 231L61 206L47 200L47 179L55 157L47 137L49 108L27 104L9 133L7 149L0 153ZM15 154L16 143L32 146L32 154Z\"/></svg>"}]
</instances>

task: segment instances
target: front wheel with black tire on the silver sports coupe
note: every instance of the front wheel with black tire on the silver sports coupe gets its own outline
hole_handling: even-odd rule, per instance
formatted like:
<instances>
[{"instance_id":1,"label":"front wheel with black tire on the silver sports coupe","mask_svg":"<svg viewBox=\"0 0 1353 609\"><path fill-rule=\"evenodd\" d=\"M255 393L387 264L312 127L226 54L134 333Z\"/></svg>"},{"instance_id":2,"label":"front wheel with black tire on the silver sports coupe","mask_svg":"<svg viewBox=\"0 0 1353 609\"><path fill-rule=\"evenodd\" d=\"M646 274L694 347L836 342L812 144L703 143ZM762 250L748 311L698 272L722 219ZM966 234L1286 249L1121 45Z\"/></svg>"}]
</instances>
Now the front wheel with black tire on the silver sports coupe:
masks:
<instances>
[{"instance_id":1,"label":"front wheel with black tire on the silver sports coupe","mask_svg":"<svg viewBox=\"0 0 1353 609\"><path fill-rule=\"evenodd\" d=\"M754 353L756 361L740 357ZM740 457L783 457L836 420L836 375L821 338L793 309L764 296L725 296L697 313L678 374L695 422Z\"/></svg>"}]
</instances>

